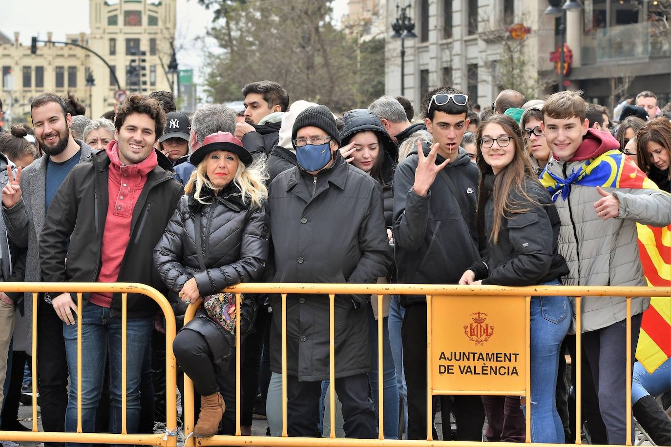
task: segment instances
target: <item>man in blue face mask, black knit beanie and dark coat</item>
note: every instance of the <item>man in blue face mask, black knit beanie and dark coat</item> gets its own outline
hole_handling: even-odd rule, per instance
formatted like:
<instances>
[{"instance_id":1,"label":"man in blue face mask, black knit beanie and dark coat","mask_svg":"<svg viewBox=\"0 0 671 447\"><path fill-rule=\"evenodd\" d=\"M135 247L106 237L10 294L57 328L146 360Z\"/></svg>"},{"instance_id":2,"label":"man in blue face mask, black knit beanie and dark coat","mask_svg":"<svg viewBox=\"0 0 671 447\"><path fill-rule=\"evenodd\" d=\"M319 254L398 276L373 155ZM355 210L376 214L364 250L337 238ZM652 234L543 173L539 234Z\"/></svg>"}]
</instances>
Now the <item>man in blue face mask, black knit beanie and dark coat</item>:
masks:
<instances>
[{"instance_id":1,"label":"man in blue face mask, black knit beanie and dark coat","mask_svg":"<svg viewBox=\"0 0 671 447\"><path fill-rule=\"evenodd\" d=\"M382 188L340 155L340 133L325 106L308 107L293 125L298 166L270 185L274 282L375 283L392 261ZM337 235L337 236L336 236ZM335 296L335 391L350 438L374 438L368 399L370 295ZM282 373L282 306L271 298L270 367ZM329 378L329 296L287 296L289 436L318 437L321 381Z\"/></svg>"}]
</instances>

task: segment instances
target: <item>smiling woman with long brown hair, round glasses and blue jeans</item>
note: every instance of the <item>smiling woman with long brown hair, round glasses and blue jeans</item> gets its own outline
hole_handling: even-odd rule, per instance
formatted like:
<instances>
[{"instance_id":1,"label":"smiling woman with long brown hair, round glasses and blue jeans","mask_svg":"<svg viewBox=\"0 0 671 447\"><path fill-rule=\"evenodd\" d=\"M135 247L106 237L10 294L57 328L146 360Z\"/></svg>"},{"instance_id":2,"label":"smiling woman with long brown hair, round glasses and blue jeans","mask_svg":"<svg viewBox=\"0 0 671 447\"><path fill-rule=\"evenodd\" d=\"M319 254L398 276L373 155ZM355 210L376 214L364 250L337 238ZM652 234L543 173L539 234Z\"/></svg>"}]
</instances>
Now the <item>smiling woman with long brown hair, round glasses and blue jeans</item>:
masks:
<instances>
[{"instance_id":1,"label":"smiling woman with long brown hair, round glasses and blue jeans","mask_svg":"<svg viewBox=\"0 0 671 447\"><path fill-rule=\"evenodd\" d=\"M482 176L476 227L487 238L487 254L459 283L559 285L568 273L558 254L561 222L550 194L529 166L521 129L511 117L496 115L480 125L477 141ZM533 296L530 317L531 442L563 444L555 389L571 304L566 296Z\"/></svg>"}]
</instances>

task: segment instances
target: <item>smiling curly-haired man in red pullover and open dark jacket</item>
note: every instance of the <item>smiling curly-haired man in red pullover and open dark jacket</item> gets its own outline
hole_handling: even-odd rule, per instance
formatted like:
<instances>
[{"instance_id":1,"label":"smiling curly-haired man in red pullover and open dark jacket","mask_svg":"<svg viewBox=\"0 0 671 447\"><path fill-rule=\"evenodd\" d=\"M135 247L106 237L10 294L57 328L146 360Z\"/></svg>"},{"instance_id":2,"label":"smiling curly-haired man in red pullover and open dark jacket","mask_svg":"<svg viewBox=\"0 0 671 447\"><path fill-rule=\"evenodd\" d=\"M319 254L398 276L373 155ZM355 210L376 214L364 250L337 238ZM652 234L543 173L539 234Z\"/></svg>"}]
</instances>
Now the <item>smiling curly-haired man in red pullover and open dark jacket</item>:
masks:
<instances>
[{"instance_id":1,"label":"smiling curly-haired man in red pullover and open dark jacket","mask_svg":"<svg viewBox=\"0 0 671 447\"><path fill-rule=\"evenodd\" d=\"M116 140L96 153L92 163L72 168L48 208L39 245L44 281L138 282L167 292L152 253L183 188L172 178L172 171L166 170L171 167L169 160L158 157L154 150L164 126L165 115L154 99L133 94L119 107ZM77 324L81 324L82 349L87 355L81 381L83 430L94 431L109 358L110 430L120 433L121 294L82 294L79 316L76 299L69 293L45 295L63 322L70 371L65 430L77 428ZM147 296L128 294L125 391L129 433L138 430L140 376L157 311L158 306Z\"/></svg>"}]
</instances>

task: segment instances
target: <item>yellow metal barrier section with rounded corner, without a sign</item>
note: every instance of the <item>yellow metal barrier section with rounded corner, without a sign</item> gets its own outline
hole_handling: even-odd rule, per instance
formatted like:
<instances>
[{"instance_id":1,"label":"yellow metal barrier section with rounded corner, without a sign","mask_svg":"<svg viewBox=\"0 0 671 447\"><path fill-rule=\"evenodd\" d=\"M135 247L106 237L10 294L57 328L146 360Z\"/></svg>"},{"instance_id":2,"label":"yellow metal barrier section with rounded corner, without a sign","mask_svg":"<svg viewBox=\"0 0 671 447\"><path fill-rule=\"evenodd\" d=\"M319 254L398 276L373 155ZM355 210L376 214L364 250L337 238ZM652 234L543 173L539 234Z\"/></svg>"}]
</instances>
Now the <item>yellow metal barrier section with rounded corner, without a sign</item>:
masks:
<instances>
[{"instance_id":1,"label":"yellow metal barrier section with rounded corner, without a sign","mask_svg":"<svg viewBox=\"0 0 671 447\"><path fill-rule=\"evenodd\" d=\"M33 383L33 426L32 432L3 432L0 439L15 442L84 442L101 444L138 444L145 446L175 447L177 445L177 403L176 403L176 361L172 353L172 340L175 336L175 320L172 307L168 300L148 285L138 283L0 283L1 292L28 292L33 295L33 331L32 331L32 383ZM66 432L38 432L38 404L37 404L37 326L38 326L38 293L70 292L77 294L77 314L81 316L82 294L85 292L113 292L120 293L121 306L121 434L83 433L81 416L81 383L82 383L82 340L81 324L77 324L77 431ZM127 294L142 294L154 300L166 316L166 433L164 434L127 434L126 432L126 323L127 323ZM47 305L42 303L42 305ZM79 318L78 318L79 323ZM172 391L171 391L172 390Z\"/></svg>"}]
</instances>

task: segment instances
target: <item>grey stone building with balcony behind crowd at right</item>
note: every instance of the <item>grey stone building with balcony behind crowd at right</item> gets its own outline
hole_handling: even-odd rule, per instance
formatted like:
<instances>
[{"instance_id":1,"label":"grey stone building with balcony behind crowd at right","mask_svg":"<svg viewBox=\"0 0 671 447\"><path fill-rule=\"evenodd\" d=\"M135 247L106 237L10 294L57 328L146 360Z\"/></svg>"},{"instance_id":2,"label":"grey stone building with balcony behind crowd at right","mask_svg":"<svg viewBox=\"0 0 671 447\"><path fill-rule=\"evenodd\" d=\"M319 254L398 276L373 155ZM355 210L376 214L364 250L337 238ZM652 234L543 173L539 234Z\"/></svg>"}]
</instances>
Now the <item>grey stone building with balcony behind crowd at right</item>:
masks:
<instances>
[{"instance_id":1,"label":"grey stone building with balcony behind crowd at right","mask_svg":"<svg viewBox=\"0 0 671 447\"><path fill-rule=\"evenodd\" d=\"M407 0L401 0L401 6ZM563 0L562 2L563 3ZM407 4L407 3L406 3ZM503 88L527 97L557 91L561 17L546 15L548 0L410 0L417 38L405 39L405 96L415 107L431 88L453 85L472 103L491 104ZM660 107L670 101L671 3L657 0L582 0L566 11L570 70L565 87L587 101L613 107L652 89ZM401 94L401 42L391 38L397 3L386 8L386 94ZM666 18L665 18L666 17ZM513 24L525 27L515 40ZM517 36L519 37L519 36Z\"/></svg>"}]
</instances>

